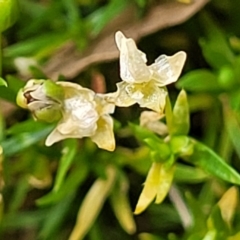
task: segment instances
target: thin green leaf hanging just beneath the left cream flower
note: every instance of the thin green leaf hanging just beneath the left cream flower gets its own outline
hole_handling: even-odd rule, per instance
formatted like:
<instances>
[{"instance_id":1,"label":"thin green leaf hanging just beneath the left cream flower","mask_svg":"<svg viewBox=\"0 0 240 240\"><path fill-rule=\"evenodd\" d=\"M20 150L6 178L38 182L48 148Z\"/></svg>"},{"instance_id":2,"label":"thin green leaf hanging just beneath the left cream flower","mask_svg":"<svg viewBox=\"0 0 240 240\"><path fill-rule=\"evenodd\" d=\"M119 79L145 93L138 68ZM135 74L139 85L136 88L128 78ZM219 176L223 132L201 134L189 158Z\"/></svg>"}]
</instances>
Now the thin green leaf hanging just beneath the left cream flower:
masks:
<instances>
[{"instance_id":1,"label":"thin green leaf hanging just beneath the left cream flower","mask_svg":"<svg viewBox=\"0 0 240 240\"><path fill-rule=\"evenodd\" d=\"M64 141L64 147L62 150L62 157L57 171L56 181L53 187L53 191L58 191L64 181L65 175L77 153L77 140L67 139Z\"/></svg>"}]
</instances>

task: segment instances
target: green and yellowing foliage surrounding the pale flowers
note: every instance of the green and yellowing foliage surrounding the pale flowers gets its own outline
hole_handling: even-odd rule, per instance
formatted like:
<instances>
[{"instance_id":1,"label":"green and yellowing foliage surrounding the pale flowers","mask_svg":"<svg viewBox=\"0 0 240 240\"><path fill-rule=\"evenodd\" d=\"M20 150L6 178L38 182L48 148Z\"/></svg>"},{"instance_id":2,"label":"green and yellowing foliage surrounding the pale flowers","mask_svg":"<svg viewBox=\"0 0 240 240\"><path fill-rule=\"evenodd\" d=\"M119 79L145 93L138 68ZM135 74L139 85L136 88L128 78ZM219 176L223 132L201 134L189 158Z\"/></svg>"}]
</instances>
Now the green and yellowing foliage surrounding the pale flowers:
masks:
<instances>
[{"instance_id":1,"label":"green and yellowing foliage surrounding the pale flowers","mask_svg":"<svg viewBox=\"0 0 240 240\"><path fill-rule=\"evenodd\" d=\"M164 114L149 115L142 123L136 106L117 109L114 152L98 149L86 138L46 147L57 122L35 121L16 106L25 79L48 79L42 70L59 48L74 43L77 48L67 55L91 52L89 43L108 35L102 30L116 16L137 7L137 23L154 4L0 1L1 239L239 239L239 1L213 0L174 31L166 29L139 43L149 59L158 51L184 49L187 65L168 89ZM18 65L22 57L24 64ZM65 57L67 62L70 56ZM94 88L98 73L106 76L108 90L119 81L118 68L111 64L59 78ZM43 84L47 103L62 103L62 88L50 80ZM34 115L48 122L61 118L55 111ZM135 214L145 212L134 216L134 209Z\"/></svg>"}]
</instances>

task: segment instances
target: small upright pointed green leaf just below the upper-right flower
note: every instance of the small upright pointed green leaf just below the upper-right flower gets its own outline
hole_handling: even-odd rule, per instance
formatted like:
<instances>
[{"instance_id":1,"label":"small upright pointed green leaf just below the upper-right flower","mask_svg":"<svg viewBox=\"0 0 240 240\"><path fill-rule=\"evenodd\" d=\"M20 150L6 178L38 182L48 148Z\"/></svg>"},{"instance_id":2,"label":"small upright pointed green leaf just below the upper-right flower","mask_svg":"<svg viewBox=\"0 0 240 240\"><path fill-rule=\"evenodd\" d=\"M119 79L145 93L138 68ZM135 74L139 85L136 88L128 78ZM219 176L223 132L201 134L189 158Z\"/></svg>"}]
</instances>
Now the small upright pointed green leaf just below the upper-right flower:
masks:
<instances>
[{"instance_id":1,"label":"small upright pointed green leaf just below the upper-right flower","mask_svg":"<svg viewBox=\"0 0 240 240\"><path fill-rule=\"evenodd\" d=\"M182 90L173 108L172 135L187 135L190 128L187 94Z\"/></svg>"}]
</instances>

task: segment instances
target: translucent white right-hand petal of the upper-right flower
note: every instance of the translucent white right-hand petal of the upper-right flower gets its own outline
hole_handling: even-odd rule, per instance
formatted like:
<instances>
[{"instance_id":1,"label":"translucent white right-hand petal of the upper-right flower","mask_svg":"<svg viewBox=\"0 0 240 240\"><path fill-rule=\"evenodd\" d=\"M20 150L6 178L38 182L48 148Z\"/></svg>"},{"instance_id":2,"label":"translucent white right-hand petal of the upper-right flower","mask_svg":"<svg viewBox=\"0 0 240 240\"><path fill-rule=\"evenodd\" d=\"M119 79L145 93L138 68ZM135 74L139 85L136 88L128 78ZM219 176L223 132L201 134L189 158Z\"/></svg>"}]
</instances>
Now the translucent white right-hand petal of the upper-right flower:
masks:
<instances>
[{"instance_id":1,"label":"translucent white right-hand petal of the upper-right flower","mask_svg":"<svg viewBox=\"0 0 240 240\"><path fill-rule=\"evenodd\" d=\"M186 53L180 51L173 56L160 55L155 63L149 66L152 71L152 79L158 86L166 86L176 82L182 72L183 65L186 61Z\"/></svg>"}]
</instances>

